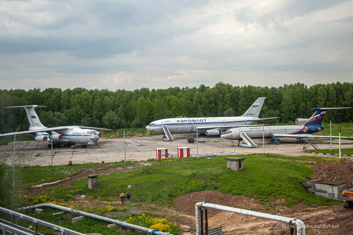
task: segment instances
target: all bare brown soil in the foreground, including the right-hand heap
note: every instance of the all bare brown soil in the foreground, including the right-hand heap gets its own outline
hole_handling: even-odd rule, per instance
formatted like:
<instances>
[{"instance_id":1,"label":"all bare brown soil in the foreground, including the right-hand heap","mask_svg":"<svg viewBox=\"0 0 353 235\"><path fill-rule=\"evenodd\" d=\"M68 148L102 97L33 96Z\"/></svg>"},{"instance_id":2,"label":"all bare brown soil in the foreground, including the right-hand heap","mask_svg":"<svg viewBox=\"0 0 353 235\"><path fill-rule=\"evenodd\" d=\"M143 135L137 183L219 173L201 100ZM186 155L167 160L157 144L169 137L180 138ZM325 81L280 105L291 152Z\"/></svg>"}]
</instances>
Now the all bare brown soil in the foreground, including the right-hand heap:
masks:
<instances>
[{"instance_id":1,"label":"all bare brown soil in the foreground, including the right-hand heap","mask_svg":"<svg viewBox=\"0 0 353 235\"><path fill-rule=\"evenodd\" d=\"M315 171L311 179L327 179L350 182L353 179L353 163L344 161L339 162L317 162L312 166ZM27 188L29 195L41 195L47 186L63 185L66 188L71 188L74 184L71 180L85 178L88 174L108 174L114 172L122 172L133 170L127 167L118 168L104 168L101 169L87 169L78 172L71 177L62 179L60 182L51 185L44 185L37 188ZM348 184L349 183L349 184ZM348 187L350 188L350 187ZM84 207L103 207L107 204L121 207L129 207L134 211L149 212L159 216L171 218L178 225L186 225L191 227L190 233L195 234L195 204L197 202L207 202L213 204L220 204L229 207L236 207L242 209L251 209L261 211L273 215L281 215L294 219L302 220L306 226L306 234L324 234L324 235L353 235L353 209L345 209L342 204L333 206L309 206L303 203L298 203L291 208L287 208L281 199L273 202L272 207L264 206L258 202L258 199L250 198L244 195L233 196L215 191L193 192L182 197L175 198L172 206L169 208L161 207L160 205L121 205L117 198L112 198L112 201L104 202L98 200L87 200L80 195L75 196L75 201L68 202L70 205L82 205ZM132 197L133 199L133 197ZM151 209L148 209L151 208ZM157 209L153 209L157 208ZM286 228L286 224L276 221L264 220L261 218L244 216L234 214L226 211L219 211L215 209L208 209L208 225L209 228L223 226L223 234L244 234L244 235L258 235L258 234L290 234L290 229ZM177 219L178 218L178 219ZM283 228L285 227L285 228ZM320 233L312 231L311 229L318 228L322 230Z\"/></svg>"}]
</instances>

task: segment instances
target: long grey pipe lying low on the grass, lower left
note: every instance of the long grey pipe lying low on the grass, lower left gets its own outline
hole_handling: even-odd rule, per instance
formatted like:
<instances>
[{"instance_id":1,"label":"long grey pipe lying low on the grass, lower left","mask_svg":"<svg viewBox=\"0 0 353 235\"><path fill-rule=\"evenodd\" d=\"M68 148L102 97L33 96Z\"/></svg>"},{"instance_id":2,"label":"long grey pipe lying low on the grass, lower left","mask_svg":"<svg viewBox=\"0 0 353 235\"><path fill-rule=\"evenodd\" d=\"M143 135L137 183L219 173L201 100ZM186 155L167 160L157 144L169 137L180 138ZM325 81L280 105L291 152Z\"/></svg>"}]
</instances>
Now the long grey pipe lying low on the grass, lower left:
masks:
<instances>
[{"instance_id":1,"label":"long grey pipe lying low on the grass, lower left","mask_svg":"<svg viewBox=\"0 0 353 235\"><path fill-rule=\"evenodd\" d=\"M103 216L87 213L87 212L84 212L84 211L75 210L75 209L67 208L67 207L62 207L60 205L55 205L55 204L52 204L52 203L38 204L38 205L31 206L31 207L23 207L23 208L20 208L20 209L32 210L32 209L37 209L37 208L42 208L42 207L49 207L49 208L54 208L54 209L58 209L58 210L69 212L69 213L79 214L79 215L82 215L82 216L85 216L85 217L89 217L89 218L92 218L92 219L95 219L95 220L100 220L100 221L104 221L104 222L107 222L107 223L114 223L114 224L118 224L118 225L121 225L121 226L126 227L126 228L143 231L143 232L148 233L148 234L151 234L152 230L153 230L153 229L137 226L137 225L134 225L134 224L125 223L125 222L122 222L120 220L113 220L113 219L110 219L110 218L107 218L107 217L103 217ZM164 232L161 232L161 231L155 231L155 234L156 235L172 235L172 234L164 233Z\"/></svg>"}]
</instances>

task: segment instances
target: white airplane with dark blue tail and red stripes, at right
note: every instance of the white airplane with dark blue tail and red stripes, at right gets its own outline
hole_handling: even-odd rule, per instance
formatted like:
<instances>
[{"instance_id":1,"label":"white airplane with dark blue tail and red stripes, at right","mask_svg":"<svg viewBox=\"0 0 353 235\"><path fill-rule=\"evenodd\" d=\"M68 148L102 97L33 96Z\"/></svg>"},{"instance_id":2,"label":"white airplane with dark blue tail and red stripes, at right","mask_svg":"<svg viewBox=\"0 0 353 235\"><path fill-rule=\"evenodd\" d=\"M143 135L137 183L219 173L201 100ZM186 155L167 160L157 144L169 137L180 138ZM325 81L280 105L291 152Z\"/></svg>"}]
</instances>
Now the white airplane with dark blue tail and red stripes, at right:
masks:
<instances>
[{"instance_id":1,"label":"white airplane with dark blue tail and red stripes, at right","mask_svg":"<svg viewBox=\"0 0 353 235\"><path fill-rule=\"evenodd\" d=\"M240 140L243 139L241 135L244 136L246 133L251 139L275 139L280 137L292 137L297 139L297 143L304 143L305 138L316 137L316 138L339 138L339 136L329 136L329 135L311 135L313 133L322 131L324 127L321 125L322 120L329 109L343 109L343 108L312 108L316 112L309 119L298 118L295 120L297 125L290 126L265 126L264 133L263 127L238 127L232 128L226 131L221 138L228 140ZM271 136L273 135L273 136ZM341 138L349 138L341 136Z\"/></svg>"}]
</instances>

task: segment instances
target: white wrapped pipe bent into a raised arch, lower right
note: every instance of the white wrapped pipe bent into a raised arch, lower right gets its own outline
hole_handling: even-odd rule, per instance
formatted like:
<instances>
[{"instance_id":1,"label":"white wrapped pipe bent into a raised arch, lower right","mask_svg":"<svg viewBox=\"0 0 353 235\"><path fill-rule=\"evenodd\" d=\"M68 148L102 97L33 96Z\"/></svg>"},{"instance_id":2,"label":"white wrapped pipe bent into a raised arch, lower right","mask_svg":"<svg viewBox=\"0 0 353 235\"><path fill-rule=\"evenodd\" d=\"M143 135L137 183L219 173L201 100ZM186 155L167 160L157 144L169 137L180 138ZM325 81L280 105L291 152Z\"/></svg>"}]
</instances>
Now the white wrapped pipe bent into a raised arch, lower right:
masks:
<instances>
[{"instance_id":1,"label":"white wrapped pipe bent into a raised arch, lower right","mask_svg":"<svg viewBox=\"0 0 353 235\"><path fill-rule=\"evenodd\" d=\"M284 216L271 215L271 214L266 214L266 213L257 212L257 211L244 210L244 209L239 209L234 207L226 207L222 205L205 203L205 202L198 202L195 205L196 235L201 234L199 207L229 211L229 212L238 213L241 215L250 215L250 216L255 216L255 217L263 218L267 220L274 220L274 221L283 222L287 224L294 224L297 228L297 235L305 235L305 224L301 220L295 220L293 218L288 218Z\"/></svg>"}]
</instances>

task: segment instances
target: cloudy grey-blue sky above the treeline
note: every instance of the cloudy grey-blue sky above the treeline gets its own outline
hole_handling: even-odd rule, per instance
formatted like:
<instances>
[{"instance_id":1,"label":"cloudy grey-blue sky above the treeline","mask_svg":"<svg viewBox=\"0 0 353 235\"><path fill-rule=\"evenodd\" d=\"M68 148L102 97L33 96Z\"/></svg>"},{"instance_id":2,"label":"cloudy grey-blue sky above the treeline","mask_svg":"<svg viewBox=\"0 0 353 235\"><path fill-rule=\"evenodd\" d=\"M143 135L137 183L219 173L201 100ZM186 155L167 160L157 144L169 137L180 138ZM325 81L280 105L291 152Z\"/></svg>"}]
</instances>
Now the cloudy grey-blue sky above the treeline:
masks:
<instances>
[{"instance_id":1,"label":"cloudy grey-blue sky above the treeline","mask_svg":"<svg viewBox=\"0 0 353 235\"><path fill-rule=\"evenodd\" d=\"M353 1L0 0L0 89L353 81Z\"/></svg>"}]
</instances>

